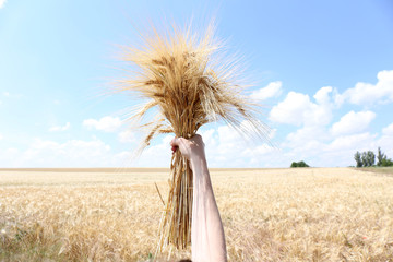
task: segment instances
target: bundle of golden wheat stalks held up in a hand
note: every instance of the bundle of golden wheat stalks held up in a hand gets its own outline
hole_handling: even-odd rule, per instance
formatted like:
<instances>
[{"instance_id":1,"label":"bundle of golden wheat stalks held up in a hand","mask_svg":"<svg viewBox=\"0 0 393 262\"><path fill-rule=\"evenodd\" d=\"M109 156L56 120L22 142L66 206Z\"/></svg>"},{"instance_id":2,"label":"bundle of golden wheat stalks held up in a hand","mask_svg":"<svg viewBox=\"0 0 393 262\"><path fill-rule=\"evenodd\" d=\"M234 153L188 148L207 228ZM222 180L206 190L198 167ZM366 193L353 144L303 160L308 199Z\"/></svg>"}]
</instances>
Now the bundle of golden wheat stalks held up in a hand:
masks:
<instances>
[{"instance_id":1,"label":"bundle of golden wheat stalks held up in a hand","mask_svg":"<svg viewBox=\"0 0 393 262\"><path fill-rule=\"evenodd\" d=\"M120 91L136 92L147 103L132 114L139 127L147 129L143 141L159 133L192 138L205 123L224 120L246 134L265 134L265 126L254 117L255 104L242 95L236 63L216 56L223 47L214 37L214 26L191 34L191 26L172 26L165 34L153 28L142 47L124 48L123 60L136 72L121 81ZM157 108L153 120L144 120ZM243 124L243 122L247 124ZM187 248L191 239L192 171L177 151L171 158L169 194L159 229L159 249L168 243Z\"/></svg>"}]
</instances>

